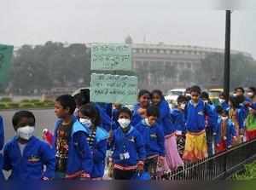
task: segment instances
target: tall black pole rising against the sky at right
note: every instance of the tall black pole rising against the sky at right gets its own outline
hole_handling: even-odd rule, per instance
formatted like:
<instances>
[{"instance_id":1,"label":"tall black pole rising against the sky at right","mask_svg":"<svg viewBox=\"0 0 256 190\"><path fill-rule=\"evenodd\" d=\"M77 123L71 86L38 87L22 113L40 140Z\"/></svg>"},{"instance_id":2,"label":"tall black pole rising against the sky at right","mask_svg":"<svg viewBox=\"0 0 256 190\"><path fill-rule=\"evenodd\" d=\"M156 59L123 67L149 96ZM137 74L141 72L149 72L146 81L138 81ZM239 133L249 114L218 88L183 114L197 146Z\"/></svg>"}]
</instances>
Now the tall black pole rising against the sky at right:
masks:
<instances>
[{"instance_id":1,"label":"tall black pole rising against the sky at right","mask_svg":"<svg viewBox=\"0 0 256 190\"><path fill-rule=\"evenodd\" d=\"M231 10L226 10L226 29L225 29L225 52L224 52L224 95L226 101L230 96L230 26Z\"/></svg>"}]
</instances>

